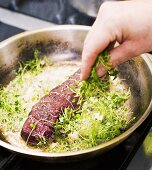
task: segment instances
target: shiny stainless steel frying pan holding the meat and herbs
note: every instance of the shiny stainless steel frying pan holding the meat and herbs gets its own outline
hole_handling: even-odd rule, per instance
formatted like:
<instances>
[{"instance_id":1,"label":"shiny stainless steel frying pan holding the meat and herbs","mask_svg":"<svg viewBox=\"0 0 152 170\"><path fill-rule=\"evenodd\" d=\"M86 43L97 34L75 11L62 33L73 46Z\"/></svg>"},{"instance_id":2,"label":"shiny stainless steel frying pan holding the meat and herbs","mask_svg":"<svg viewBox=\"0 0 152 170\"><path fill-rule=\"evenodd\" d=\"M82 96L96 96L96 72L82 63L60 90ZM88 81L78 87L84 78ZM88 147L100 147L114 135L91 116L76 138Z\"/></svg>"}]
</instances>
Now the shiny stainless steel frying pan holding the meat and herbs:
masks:
<instances>
[{"instance_id":1,"label":"shiny stainless steel frying pan holding the meat and herbs","mask_svg":"<svg viewBox=\"0 0 152 170\"><path fill-rule=\"evenodd\" d=\"M0 43L0 84L9 84L15 77L19 61L30 60L37 48L52 60L81 60L83 42L90 27L88 26L55 26L46 29L28 31L11 37ZM131 108L136 116L135 121L120 136L98 146L66 153L46 153L26 150L8 143L0 135L0 146L43 161L74 161L101 154L125 140L148 117L152 110L152 61L150 54L138 56L118 67L120 77L126 79L132 93ZM0 113L1 114L1 113Z\"/></svg>"}]
</instances>

